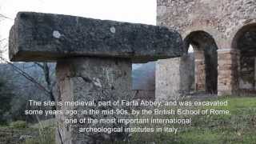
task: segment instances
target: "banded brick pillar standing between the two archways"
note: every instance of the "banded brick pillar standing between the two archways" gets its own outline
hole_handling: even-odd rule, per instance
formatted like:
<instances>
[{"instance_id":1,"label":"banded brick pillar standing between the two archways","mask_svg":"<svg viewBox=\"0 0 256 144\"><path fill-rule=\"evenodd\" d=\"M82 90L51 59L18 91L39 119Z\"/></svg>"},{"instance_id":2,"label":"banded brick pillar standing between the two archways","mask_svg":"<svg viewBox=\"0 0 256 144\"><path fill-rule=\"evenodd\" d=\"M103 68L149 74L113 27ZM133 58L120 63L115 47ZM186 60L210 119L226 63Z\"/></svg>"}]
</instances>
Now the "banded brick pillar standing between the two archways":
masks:
<instances>
[{"instance_id":1,"label":"banded brick pillar standing between the two archways","mask_svg":"<svg viewBox=\"0 0 256 144\"><path fill-rule=\"evenodd\" d=\"M218 95L236 93L238 90L238 67L238 50L218 50Z\"/></svg>"}]
</instances>

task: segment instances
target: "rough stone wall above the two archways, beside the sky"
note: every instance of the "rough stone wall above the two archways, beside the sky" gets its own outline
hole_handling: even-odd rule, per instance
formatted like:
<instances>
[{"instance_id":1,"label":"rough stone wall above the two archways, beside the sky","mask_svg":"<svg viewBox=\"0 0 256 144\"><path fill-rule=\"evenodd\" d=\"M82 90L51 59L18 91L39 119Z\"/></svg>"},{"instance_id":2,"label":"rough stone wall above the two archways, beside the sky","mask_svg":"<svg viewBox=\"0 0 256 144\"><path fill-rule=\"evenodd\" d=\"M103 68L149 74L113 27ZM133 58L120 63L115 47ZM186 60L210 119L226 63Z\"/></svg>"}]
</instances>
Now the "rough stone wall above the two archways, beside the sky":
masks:
<instances>
[{"instance_id":1,"label":"rough stone wall above the two archways, beside the sky","mask_svg":"<svg viewBox=\"0 0 256 144\"><path fill-rule=\"evenodd\" d=\"M158 0L157 20L183 38L191 31L205 30L225 49L242 26L255 22L255 7L254 0Z\"/></svg>"}]
</instances>

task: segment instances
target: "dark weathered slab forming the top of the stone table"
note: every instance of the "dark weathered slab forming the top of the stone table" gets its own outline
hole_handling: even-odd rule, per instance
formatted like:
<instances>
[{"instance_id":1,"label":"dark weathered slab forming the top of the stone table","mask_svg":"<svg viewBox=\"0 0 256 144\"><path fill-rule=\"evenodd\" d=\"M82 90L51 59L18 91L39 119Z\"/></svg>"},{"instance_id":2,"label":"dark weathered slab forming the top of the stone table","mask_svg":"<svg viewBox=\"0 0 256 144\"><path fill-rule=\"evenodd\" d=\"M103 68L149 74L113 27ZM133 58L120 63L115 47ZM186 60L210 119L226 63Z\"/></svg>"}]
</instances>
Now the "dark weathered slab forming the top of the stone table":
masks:
<instances>
[{"instance_id":1,"label":"dark weathered slab forming the top of the stone table","mask_svg":"<svg viewBox=\"0 0 256 144\"><path fill-rule=\"evenodd\" d=\"M46 62L75 56L148 62L182 54L174 30L61 14L20 12L10 30L10 60Z\"/></svg>"}]
</instances>

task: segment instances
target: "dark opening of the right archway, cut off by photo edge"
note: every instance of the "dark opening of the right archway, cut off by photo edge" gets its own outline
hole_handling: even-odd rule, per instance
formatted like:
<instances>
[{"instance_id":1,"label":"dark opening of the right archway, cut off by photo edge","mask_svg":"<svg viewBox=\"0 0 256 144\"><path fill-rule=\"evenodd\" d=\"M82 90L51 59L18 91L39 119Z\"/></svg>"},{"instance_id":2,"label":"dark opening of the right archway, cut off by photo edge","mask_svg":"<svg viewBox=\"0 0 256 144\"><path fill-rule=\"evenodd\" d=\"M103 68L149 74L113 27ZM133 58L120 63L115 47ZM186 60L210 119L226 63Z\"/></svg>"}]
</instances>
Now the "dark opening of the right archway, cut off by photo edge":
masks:
<instances>
[{"instance_id":1,"label":"dark opening of the right archway, cut off by photo edge","mask_svg":"<svg viewBox=\"0 0 256 144\"><path fill-rule=\"evenodd\" d=\"M256 91L256 22L241 26L231 41L238 54L238 89L241 92Z\"/></svg>"}]
</instances>

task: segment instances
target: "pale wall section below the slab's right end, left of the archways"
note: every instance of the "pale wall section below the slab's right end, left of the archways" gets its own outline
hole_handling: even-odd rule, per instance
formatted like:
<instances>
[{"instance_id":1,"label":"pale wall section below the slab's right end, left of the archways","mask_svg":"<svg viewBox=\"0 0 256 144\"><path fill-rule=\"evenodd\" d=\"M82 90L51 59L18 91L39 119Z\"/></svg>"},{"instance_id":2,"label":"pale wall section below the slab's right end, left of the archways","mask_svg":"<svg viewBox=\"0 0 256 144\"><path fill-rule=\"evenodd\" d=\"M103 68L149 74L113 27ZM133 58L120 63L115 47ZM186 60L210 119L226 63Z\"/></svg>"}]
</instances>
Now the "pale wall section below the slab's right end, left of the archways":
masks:
<instances>
[{"instance_id":1,"label":"pale wall section below the slab's right end, left of the archways","mask_svg":"<svg viewBox=\"0 0 256 144\"><path fill-rule=\"evenodd\" d=\"M156 63L155 98L177 99L194 90L194 54Z\"/></svg>"}]
</instances>

